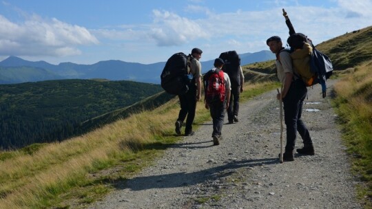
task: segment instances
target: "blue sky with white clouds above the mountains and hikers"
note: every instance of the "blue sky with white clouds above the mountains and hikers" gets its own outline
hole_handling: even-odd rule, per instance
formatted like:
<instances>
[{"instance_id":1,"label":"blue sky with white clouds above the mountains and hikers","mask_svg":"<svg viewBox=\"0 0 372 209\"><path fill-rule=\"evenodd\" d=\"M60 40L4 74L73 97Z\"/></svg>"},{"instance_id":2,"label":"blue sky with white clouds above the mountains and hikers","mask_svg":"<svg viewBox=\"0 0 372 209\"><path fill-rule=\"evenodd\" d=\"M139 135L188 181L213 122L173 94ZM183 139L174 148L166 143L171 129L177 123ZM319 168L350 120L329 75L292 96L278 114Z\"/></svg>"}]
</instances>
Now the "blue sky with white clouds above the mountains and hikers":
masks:
<instances>
[{"instance_id":1,"label":"blue sky with white clouds above the mountains and hikers","mask_svg":"<svg viewBox=\"0 0 372 209\"><path fill-rule=\"evenodd\" d=\"M0 61L149 64L193 47L202 61L259 52L269 36L287 39L282 8L315 44L372 25L372 0L1 0Z\"/></svg>"}]
</instances>

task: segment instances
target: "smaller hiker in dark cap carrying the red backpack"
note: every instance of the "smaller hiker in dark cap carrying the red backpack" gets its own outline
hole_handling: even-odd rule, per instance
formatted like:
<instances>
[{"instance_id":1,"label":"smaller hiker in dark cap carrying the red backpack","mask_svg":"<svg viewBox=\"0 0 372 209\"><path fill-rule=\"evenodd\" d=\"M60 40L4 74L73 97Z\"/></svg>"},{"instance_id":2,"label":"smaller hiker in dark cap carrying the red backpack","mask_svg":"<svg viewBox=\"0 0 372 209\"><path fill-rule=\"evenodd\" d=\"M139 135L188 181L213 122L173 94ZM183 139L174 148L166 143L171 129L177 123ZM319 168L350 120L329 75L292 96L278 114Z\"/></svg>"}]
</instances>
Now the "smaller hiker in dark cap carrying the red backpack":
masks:
<instances>
[{"instance_id":1,"label":"smaller hiker in dark cap carrying the red backpack","mask_svg":"<svg viewBox=\"0 0 372 209\"><path fill-rule=\"evenodd\" d=\"M229 108L230 101L231 83L229 76L222 70L224 64L221 58L216 58L214 68L203 76L205 108L209 109L213 121L211 137L214 145L220 144L222 140L225 109Z\"/></svg>"}]
</instances>

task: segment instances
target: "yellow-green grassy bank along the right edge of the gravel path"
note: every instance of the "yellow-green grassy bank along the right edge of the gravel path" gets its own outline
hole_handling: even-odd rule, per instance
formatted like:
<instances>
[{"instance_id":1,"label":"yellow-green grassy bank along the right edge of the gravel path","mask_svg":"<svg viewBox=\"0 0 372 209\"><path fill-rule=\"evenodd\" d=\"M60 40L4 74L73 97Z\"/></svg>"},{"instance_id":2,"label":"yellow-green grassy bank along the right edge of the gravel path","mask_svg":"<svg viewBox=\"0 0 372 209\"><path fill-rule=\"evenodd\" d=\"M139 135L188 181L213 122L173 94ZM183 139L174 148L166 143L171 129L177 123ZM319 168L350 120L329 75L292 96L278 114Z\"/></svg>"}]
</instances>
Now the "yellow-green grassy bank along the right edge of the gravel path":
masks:
<instances>
[{"instance_id":1,"label":"yellow-green grassy bank along the right edge of the gravel path","mask_svg":"<svg viewBox=\"0 0 372 209\"><path fill-rule=\"evenodd\" d=\"M366 208L372 208L372 62L355 67L335 85L335 107L344 142L353 157L353 170L366 184L358 190ZM364 186L363 186L364 185Z\"/></svg>"}]
</instances>

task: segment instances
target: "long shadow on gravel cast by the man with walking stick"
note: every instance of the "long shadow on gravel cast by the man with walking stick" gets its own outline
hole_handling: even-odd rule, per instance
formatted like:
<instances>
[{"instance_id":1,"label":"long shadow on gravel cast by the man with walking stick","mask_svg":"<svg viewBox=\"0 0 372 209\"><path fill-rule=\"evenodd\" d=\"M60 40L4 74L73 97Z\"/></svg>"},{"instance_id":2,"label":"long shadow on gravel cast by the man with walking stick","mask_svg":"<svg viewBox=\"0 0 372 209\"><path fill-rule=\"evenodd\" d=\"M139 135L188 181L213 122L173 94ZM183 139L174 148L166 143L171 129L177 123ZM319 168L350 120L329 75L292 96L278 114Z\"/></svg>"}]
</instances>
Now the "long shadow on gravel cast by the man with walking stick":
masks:
<instances>
[{"instance_id":1,"label":"long shadow on gravel cast by the man with walking stick","mask_svg":"<svg viewBox=\"0 0 372 209\"><path fill-rule=\"evenodd\" d=\"M223 166L207 168L193 173L170 173L146 177L134 177L127 182L112 182L118 189L147 190L151 188L175 188L203 183L207 180L216 180L234 173L234 169L241 167L261 166L262 164L277 164L278 158L247 159L238 162L229 162ZM123 179L121 179L123 180Z\"/></svg>"}]
</instances>

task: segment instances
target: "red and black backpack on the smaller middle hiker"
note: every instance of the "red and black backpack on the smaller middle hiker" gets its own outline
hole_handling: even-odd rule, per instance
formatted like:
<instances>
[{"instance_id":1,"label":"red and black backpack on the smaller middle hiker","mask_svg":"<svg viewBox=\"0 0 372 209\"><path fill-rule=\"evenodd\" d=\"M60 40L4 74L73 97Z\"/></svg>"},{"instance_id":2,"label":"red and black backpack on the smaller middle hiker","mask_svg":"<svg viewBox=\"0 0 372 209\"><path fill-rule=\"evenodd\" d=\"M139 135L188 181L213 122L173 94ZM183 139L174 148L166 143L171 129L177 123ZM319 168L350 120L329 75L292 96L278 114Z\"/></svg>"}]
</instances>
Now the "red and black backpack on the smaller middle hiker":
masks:
<instances>
[{"instance_id":1,"label":"red and black backpack on the smaller middle hiker","mask_svg":"<svg viewBox=\"0 0 372 209\"><path fill-rule=\"evenodd\" d=\"M224 102L225 101L225 78L223 71L216 68L209 70L203 76L205 102Z\"/></svg>"}]
</instances>

